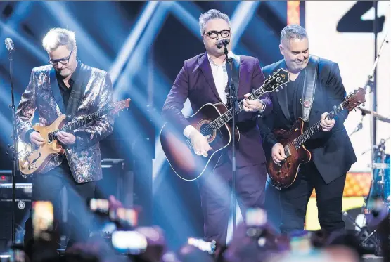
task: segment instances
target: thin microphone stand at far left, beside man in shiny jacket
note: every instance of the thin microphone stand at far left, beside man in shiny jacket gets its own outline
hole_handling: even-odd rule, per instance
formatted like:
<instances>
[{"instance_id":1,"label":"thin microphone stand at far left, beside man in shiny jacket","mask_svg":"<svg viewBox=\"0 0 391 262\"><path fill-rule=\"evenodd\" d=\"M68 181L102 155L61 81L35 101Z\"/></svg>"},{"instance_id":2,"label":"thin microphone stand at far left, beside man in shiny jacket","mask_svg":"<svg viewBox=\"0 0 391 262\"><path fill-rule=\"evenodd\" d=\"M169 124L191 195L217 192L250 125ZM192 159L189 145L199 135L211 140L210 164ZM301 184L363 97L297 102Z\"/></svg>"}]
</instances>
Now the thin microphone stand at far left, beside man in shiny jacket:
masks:
<instances>
[{"instance_id":1,"label":"thin microphone stand at far left, beside man in shiny jacket","mask_svg":"<svg viewBox=\"0 0 391 262\"><path fill-rule=\"evenodd\" d=\"M13 127L13 145L8 145L7 148L7 154L8 150L13 149L12 152L12 162L13 162L13 169L12 169L12 204L11 204L11 241L12 244L15 244L15 202L16 202L16 172L18 171L18 132L16 131L16 113L15 113L15 98L14 98L14 89L13 89L13 51L14 49L10 49L8 51L8 59L10 61L10 83L11 83L11 105L9 105L11 111L12 111L12 127Z\"/></svg>"}]
</instances>

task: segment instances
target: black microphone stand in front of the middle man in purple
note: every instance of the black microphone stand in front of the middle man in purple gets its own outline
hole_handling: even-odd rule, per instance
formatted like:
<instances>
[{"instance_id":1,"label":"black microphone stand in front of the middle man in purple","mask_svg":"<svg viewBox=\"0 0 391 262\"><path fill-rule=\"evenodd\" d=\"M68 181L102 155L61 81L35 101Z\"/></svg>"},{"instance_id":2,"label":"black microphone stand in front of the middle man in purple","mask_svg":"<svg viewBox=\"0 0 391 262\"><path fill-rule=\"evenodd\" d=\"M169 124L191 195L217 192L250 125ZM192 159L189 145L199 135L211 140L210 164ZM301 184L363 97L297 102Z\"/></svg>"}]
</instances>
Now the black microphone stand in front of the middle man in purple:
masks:
<instances>
[{"instance_id":1,"label":"black microphone stand in front of the middle man in purple","mask_svg":"<svg viewBox=\"0 0 391 262\"><path fill-rule=\"evenodd\" d=\"M228 43L227 43L228 44ZM232 208L232 235L236 232L236 143L235 143L235 126L236 126L236 112L239 112L238 96L236 86L232 79L232 58L228 58L228 50L224 44L224 55L226 57L226 74L228 76L228 83L226 90L228 91L227 100L232 109L232 126L231 126L231 148L232 148L232 188L231 188L231 208Z\"/></svg>"}]
</instances>

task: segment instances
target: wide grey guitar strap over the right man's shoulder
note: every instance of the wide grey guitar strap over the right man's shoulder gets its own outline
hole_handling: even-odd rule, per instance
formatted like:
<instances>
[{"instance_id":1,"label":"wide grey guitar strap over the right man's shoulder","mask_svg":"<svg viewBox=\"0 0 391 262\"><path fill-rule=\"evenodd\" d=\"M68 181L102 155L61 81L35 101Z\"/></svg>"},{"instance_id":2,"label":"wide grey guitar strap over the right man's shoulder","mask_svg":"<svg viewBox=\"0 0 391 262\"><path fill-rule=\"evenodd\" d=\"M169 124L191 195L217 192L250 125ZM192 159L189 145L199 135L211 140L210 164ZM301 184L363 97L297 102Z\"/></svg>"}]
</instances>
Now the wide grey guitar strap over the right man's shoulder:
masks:
<instances>
[{"instance_id":1,"label":"wide grey guitar strap over the right man's shoulder","mask_svg":"<svg viewBox=\"0 0 391 262\"><path fill-rule=\"evenodd\" d=\"M304 83L305 88L302 93L302 119L305 122L309 120L309 113L311 112L312 103L314 102L316 79L318 77L319 57L315 55L309 56L308 65L305 69Z\"/></svg>"}]
</instances>

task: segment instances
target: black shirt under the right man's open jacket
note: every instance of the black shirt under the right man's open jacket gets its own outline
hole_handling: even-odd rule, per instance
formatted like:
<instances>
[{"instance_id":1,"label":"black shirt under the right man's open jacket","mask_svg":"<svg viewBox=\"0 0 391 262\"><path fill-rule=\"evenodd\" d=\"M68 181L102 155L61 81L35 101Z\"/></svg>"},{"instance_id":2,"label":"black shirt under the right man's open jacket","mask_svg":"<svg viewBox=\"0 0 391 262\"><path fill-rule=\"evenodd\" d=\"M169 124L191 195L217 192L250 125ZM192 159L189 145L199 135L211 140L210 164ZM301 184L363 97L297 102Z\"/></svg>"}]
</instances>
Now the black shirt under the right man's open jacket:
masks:
<instances>
[{"instance_id":1,"label":"black shirt under the right man's open jacket","mask_svg":"<svg viewBox=\"0 0 391 262\"><path fill-rule=\"evenodd\" d=\"M286 86L286 98L291 124L302 117L302 92L305 70L300 71L295 81L289 81Z\"/></svg>"}]
</instances>

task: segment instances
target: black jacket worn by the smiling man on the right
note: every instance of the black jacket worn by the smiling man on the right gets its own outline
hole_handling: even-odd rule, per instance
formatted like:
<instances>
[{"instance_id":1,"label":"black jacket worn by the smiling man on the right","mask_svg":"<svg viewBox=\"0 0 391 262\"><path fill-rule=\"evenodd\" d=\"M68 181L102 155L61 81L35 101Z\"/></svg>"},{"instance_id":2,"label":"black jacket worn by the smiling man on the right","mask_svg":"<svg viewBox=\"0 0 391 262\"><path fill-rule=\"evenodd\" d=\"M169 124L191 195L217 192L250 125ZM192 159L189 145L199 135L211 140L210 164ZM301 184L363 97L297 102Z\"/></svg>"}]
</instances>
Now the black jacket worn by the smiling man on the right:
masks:
<instances>
[{"instance_id":1,"label":"black jacket worn by the smiling man on the right","mask_svg":"<svg viewBox=\"0 0 391 262\"><path fill-rule=\"evenodd\" d=\"M281 67L286 68L285 60L262 67L262 72L267 77ZM340 105L345 96L346 91L342 84L338 64L320 58L315 96L307 126L314 125L321 119L321 114L331 112L333 106ZM264 151L268 158L271 155L271 148L277 142L271 131L276 128L289 130L293 124L289 120L286 89L271 93L270 98L273 103L273 111L259 119L258 123ZM312 153L312 160L326 183L345 175L350 166L357 161L352 143L343 125L347 114L349 112L346 110L342 111L335 117L335 126L331 131L320 131L305 143L305 145L310 145L307 146L307 149Z\"/></svg>"}]
</instances>

